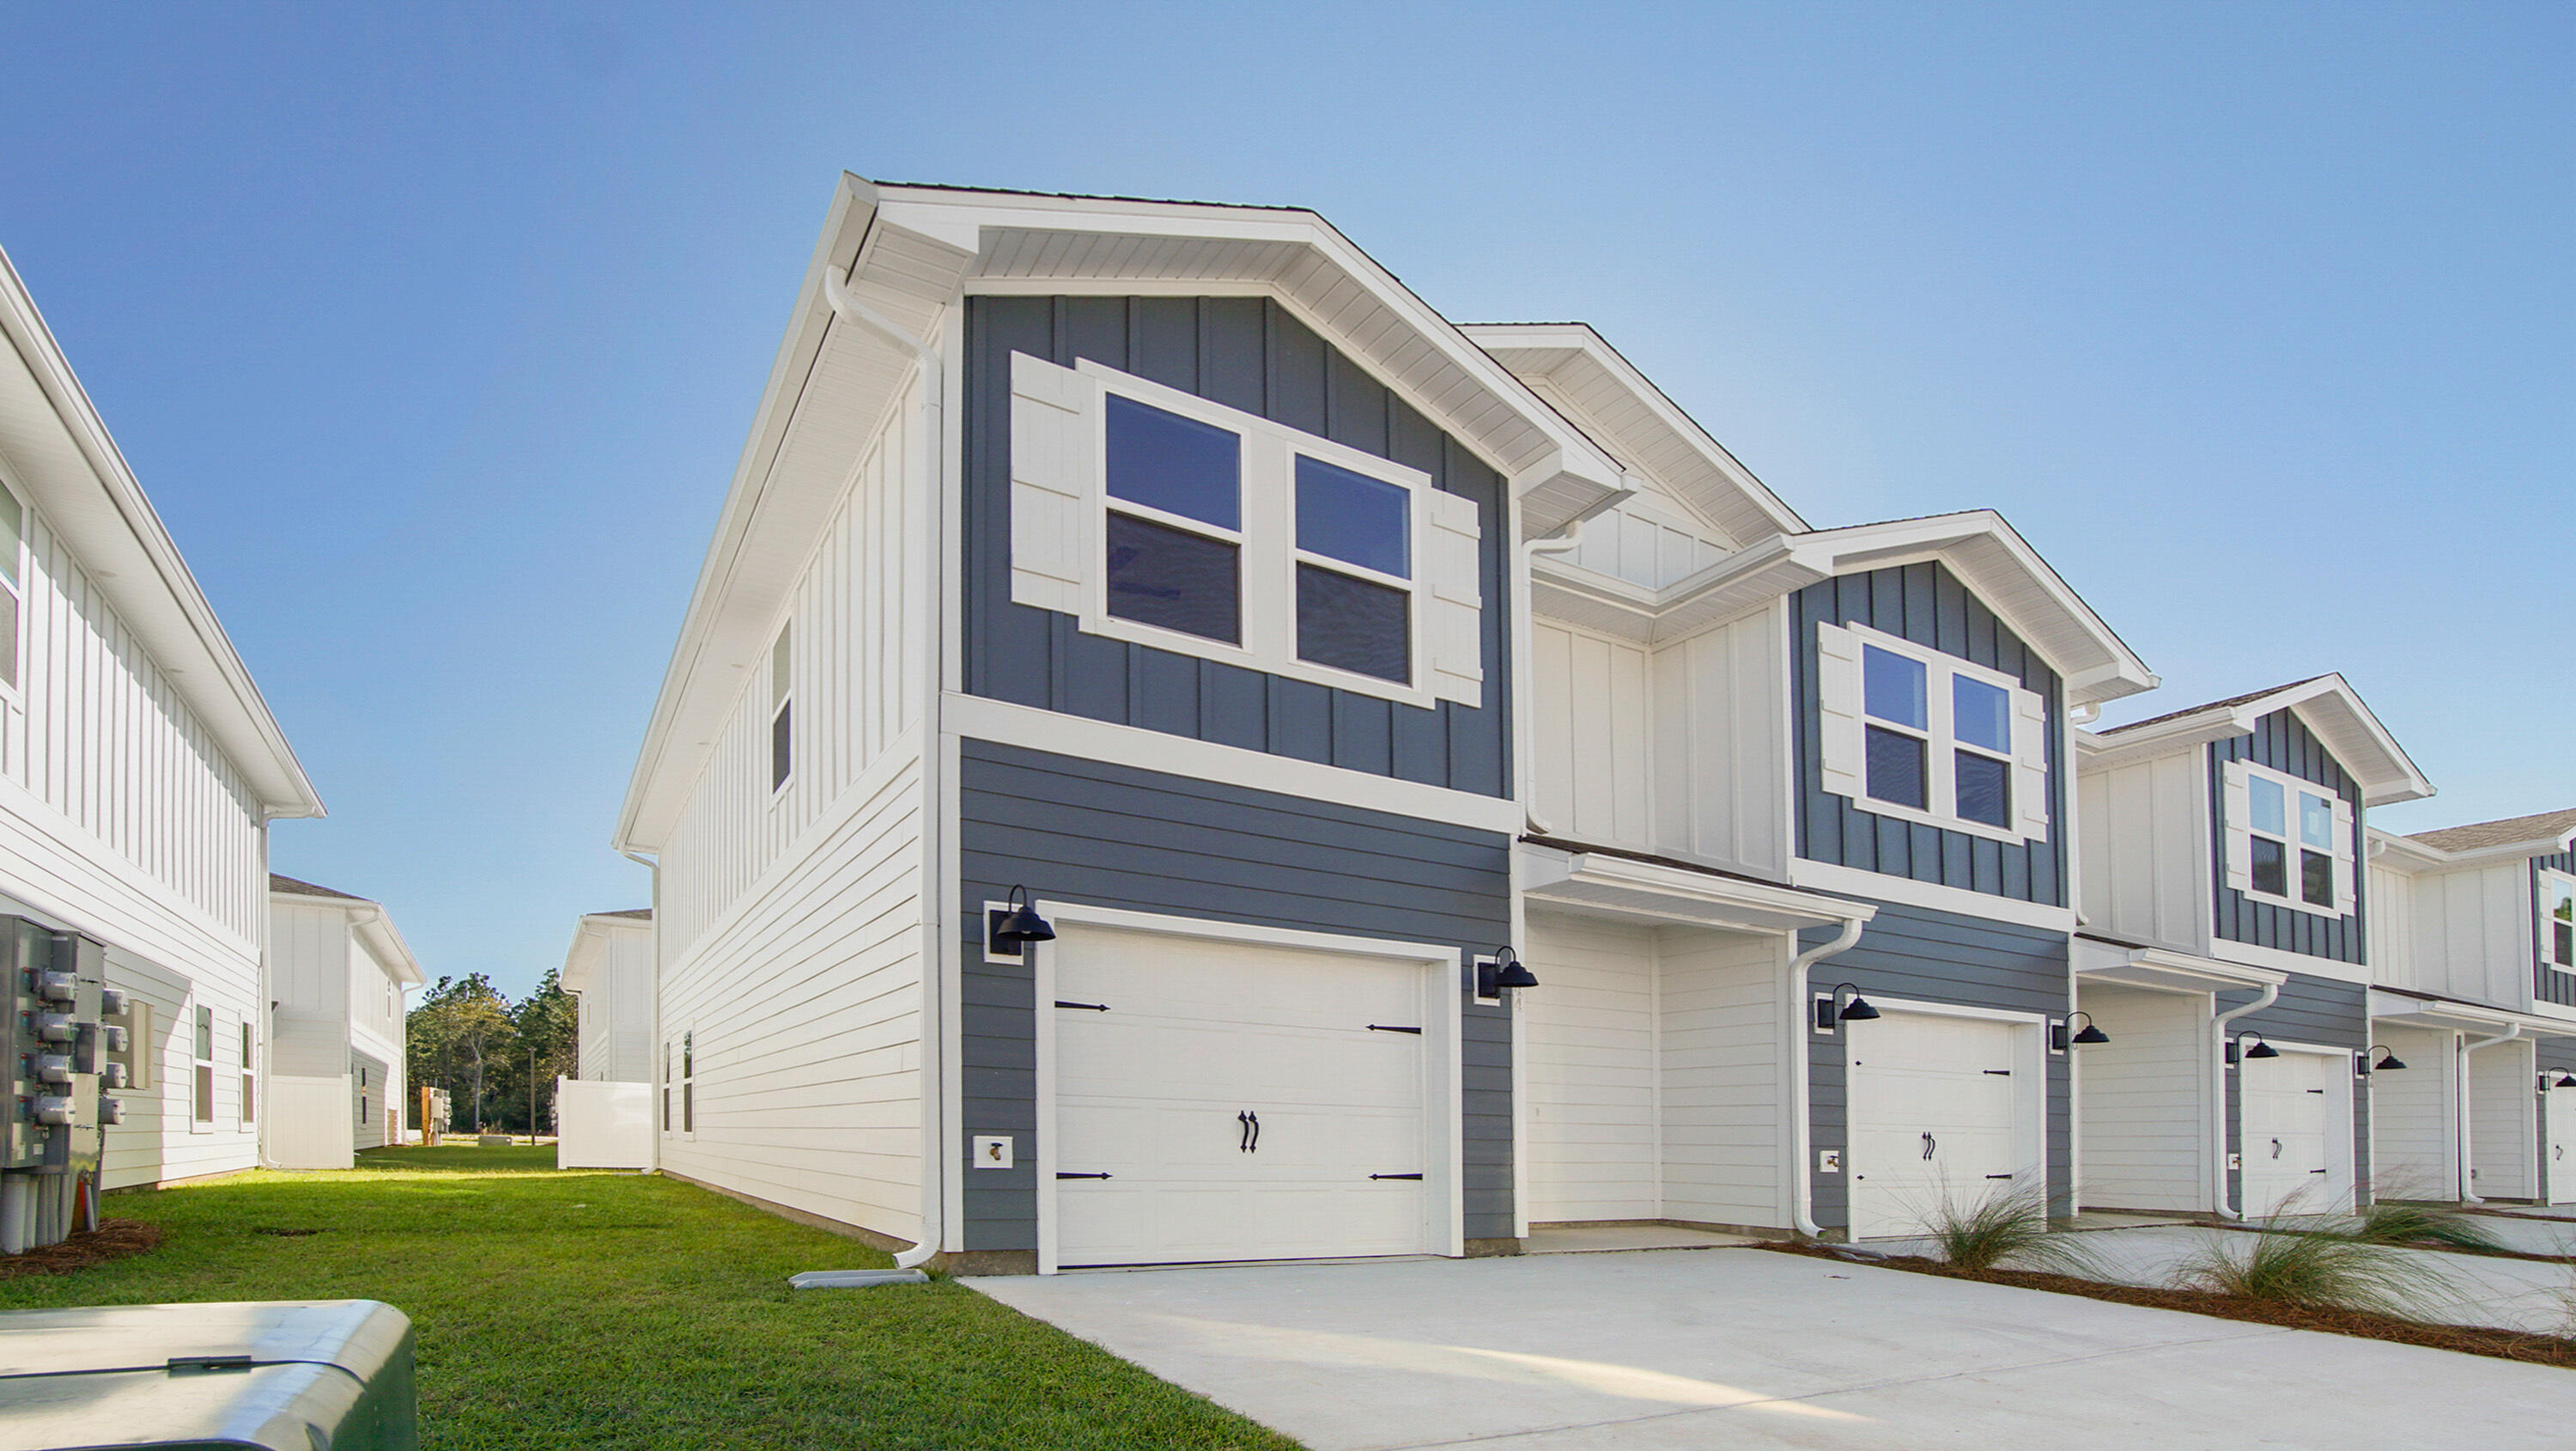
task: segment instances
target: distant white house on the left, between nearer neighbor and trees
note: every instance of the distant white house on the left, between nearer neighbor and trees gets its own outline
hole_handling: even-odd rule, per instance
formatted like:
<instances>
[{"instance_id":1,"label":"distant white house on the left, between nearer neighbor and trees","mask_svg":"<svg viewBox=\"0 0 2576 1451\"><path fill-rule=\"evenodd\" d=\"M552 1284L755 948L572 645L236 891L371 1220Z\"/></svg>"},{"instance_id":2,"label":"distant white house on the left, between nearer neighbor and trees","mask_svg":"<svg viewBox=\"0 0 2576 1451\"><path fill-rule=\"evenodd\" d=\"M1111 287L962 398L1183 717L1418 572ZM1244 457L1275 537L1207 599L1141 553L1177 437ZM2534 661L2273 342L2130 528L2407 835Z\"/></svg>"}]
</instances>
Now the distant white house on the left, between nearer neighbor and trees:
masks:
<instances>
[{"instance_id":1,"label":"distant white house on the left, between nearer neighbor and trees","mask_svg":"<svg viewBox=\"0 0 2576 1451\"><path fill-rule=\"evenodd\" d=\"M348 1168L402 1142L402 995L420 982L381 902L268 876L268 1162Z\"/></svg>"}]
</instances>

